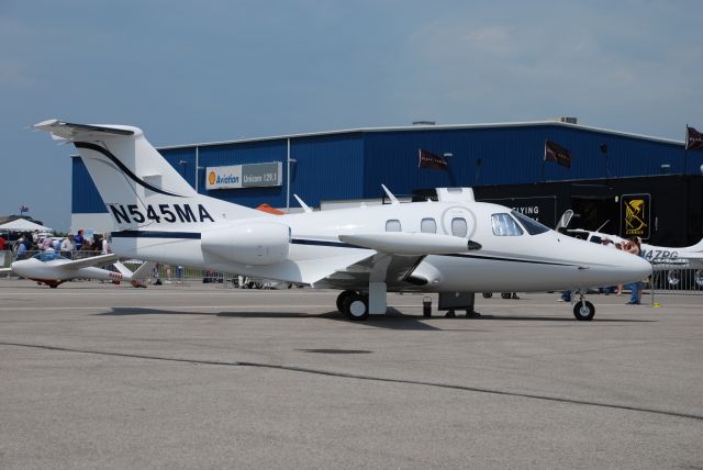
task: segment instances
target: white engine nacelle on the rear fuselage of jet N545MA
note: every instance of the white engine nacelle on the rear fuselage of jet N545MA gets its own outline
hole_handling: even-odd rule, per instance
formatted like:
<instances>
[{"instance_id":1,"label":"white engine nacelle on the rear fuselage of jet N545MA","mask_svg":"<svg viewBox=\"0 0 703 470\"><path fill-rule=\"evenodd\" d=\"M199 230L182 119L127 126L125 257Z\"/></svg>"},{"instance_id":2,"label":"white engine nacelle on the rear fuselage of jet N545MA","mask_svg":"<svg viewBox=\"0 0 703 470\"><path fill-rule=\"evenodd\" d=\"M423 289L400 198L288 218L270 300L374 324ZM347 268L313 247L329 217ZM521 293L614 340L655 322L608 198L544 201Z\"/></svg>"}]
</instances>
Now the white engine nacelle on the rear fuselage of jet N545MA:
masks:
<instances>
[{"instance_id":1,"label":"white engine nacelle on the rear fuselage of jet N545MA","mask_svg":"<svg viewBox=\"0 0 703 470\"><path fill-rule=\"evenodd\" d=\"M249 222L202 233L202 249L243 265L272 265L288 258L290 227Z\"/></svg>"}]
</instances>

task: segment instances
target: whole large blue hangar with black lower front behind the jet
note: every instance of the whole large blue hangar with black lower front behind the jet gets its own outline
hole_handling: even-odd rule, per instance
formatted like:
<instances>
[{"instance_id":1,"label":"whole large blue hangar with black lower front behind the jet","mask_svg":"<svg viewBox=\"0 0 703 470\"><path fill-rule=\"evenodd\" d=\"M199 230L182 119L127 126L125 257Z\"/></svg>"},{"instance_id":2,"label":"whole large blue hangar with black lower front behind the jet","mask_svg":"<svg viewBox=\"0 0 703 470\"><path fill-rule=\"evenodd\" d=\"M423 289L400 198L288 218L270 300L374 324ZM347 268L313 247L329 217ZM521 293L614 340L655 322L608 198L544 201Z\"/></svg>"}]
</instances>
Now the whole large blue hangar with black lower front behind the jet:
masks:
<instances>
[{"instance_id":1,"label":"whole large blue hangar with black lower front behind the jet","mask_svg":"<svg viewBox=\"0 0 703 470\"><path fill-rule=\"evenodd\" d=\"M556 144L561 161L545 160L547 142ZM438 187L472 187L477 200L515 208L553 227L571 209L570 228L604 225L606 233L668 246L703 237L703 152L579 125L573 118L425 122L158 150L200 193L252 208L298 211L293 194L323 210L383 203L381 184L406 201L432 198ZM446 168L420 168L422 150L442 157ZM71 230L111 231L83 163L78 156L71 161Z\"/></svg>"}]
</instances>

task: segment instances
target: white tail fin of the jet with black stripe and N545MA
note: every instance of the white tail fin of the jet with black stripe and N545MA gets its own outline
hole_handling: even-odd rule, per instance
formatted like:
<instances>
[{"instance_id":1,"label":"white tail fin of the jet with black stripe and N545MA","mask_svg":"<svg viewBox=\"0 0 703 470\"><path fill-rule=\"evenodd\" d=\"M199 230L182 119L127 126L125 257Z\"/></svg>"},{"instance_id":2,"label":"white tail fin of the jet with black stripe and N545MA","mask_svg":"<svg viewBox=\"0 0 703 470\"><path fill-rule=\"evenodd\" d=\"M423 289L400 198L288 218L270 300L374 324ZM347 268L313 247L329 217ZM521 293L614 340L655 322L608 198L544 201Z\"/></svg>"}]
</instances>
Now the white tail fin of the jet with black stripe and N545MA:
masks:
<instances>
[{"instance_id":1,"label":"white tail fin of the jet with black stripe and N545MA","mask_svg":"<svg viewBox=\"0 0 703 470\"><path fill-rule=\"evenodd\" d=\"M268 216L196 192L137 127L49 120L34 128L74 143L118 230L190 230Z\"/></svg>"}]
</instances>

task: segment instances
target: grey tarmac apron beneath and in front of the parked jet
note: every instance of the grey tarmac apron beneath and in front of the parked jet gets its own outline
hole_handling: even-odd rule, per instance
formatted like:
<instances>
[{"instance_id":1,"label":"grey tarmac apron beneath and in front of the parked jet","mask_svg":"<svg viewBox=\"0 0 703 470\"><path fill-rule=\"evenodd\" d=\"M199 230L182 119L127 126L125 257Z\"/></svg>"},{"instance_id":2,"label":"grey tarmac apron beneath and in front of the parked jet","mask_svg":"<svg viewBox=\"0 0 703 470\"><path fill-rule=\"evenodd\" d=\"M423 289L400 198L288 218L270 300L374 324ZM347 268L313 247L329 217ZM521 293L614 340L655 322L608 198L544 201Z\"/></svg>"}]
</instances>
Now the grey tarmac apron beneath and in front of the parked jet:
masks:
<instances>
[{"instance_id":1,"label":"grey tarmac apron beneath and in front of the parked jet","mask_svg":"<svg viewBox=\"0 0 703 470\"><path fill-rule=\"evenodd\" d=\"M1 279L0 468L703 469L701 295L336 295Z\"/></svg>"}]
</instances>

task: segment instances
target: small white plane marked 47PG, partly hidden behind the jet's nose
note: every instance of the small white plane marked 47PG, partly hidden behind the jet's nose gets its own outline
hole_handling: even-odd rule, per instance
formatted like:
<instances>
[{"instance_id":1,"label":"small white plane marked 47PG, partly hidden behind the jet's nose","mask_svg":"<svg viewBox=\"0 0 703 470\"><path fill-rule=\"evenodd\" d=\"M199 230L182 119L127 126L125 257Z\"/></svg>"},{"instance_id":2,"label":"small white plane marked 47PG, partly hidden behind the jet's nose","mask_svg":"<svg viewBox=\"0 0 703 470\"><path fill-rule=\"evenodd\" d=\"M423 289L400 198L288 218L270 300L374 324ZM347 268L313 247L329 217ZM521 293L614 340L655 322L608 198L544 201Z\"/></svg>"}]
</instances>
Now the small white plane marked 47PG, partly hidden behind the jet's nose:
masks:
<instances>
[{"instance_id":1,"label":"small white plane marked 47PG, partly hidden behind the jet's nose","mask_svg":"<svg viewBox=\"0 0 703 470\"><path fill-rule=\"evenodd\" d=\"M591 243L600 244L604 239L610 239L613 243L626 242L626 239L617 235L583 228L571 228L567 233ZM671 286L677 286L681 282L681 269L695 269L693 279L699 287L703 287L703 239L695 245L680 248L643 243L641 256L651 262L655 271L669 271L667 273L667 282Z\"/></svg>"}]
</instances>

